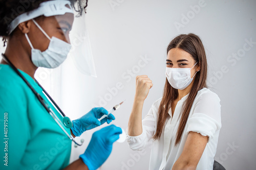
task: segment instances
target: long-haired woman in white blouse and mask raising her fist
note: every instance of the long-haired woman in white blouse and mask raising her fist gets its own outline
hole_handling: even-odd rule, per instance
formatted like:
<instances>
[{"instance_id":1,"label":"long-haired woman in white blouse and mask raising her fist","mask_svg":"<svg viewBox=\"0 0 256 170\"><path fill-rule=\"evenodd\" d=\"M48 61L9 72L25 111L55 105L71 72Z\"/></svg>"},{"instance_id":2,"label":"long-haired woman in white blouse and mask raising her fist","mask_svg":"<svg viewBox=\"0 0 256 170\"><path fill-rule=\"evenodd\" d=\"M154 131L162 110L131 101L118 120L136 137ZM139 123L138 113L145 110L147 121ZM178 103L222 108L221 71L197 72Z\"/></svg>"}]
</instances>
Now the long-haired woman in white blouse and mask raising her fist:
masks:
<instances>
[{"instance_id":1,"label":"long-haired woman in white blouse and mask raising her fist","mask_svg":"<svg viewBox=\"0 0 256 170\"><path fill-rule=\"evenodd\" d=\"M142 150L153 139L151 170L212 170L221 105L218 95L206 88L206 55L197 35L179 35L169 43L165 75L163 96L143 120L143 102L153 84L147 76L136 78L127 128L130 148Z\"/></svg>"}]
</instances>

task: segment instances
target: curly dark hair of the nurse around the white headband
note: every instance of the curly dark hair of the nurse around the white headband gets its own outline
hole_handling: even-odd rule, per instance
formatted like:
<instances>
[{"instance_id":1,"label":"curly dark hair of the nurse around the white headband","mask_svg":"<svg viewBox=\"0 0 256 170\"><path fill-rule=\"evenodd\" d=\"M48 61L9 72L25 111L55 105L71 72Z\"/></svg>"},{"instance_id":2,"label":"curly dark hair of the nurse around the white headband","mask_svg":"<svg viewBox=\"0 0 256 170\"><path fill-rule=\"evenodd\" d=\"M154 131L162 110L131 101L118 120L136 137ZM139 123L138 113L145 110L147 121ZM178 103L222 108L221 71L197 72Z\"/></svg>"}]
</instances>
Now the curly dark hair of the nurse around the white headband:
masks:
<instances>
[{"instance_id":1,"label":"curly dark hair of the nurse around the white headband","mask_svg":"<svg viewBox=\"0 0 256 170\"><path fill-rule=\"evenodd\" d=\"M46 1L52 0L0 0L0 36L3 37L4 46L6 44L6 37L8 25L15 19L18 15L25 12L32 11L39 7L39 4ZM69 0L78 16L81 16L83 9L86 11L88 6L88 0ZM85 4L85 5L83 5Z\"/></svg>"}]
</instances>

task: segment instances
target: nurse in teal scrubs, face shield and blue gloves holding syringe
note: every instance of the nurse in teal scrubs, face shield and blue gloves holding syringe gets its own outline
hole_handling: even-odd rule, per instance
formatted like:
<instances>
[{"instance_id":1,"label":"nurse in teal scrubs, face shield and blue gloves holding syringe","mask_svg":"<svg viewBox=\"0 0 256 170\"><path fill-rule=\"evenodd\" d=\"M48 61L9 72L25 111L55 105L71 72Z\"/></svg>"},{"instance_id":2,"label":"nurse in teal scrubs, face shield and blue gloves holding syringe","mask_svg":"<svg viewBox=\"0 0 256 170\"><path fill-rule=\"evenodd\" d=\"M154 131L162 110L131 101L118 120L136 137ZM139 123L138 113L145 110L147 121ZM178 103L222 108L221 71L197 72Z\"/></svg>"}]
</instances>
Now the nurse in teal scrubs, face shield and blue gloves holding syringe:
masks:
<instances>
[{"instance_id":1,"label":"nurse in teal scrubs, face shield and blue gloves holding syringe","mask_svg":"<svg viewBox=\"0 0 256 170\"><path fill-rule=\"evenodd\" d=\"M0 64L0 169L97 169L122 133L114 125L95 132L84 154L69 165L74 137L115 117L99 122L108 111L93 108L71 122L34 79L39 66L55 68L67 58L74 3L81 4L0 1L0 36L8 42Z\"/></svg>"}]
</instances>

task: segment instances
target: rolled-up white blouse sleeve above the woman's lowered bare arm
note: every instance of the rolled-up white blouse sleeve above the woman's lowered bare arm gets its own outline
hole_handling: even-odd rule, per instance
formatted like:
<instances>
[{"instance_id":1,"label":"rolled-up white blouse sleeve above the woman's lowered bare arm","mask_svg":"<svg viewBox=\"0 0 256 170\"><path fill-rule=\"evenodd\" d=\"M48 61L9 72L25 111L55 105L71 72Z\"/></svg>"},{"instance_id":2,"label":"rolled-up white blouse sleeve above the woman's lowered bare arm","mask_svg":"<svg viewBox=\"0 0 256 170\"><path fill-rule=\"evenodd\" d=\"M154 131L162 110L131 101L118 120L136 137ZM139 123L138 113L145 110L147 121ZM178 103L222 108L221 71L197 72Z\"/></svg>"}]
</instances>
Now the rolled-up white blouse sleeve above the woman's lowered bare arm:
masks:
<instances>
[{"instance_id":1,"label":"rolled-up white blouse sleeve above the woman's lowered bare arm","mask_svg":"<svg viewBox=\"0 0 256 170\"><path fill-rule=\"evenodd\" d=\"M187 120L186 133L198 132L208 136L209 142L222 126L220 98L215 92L203 88L198 91L193 105Z\"/></svg>"}]
</instances>

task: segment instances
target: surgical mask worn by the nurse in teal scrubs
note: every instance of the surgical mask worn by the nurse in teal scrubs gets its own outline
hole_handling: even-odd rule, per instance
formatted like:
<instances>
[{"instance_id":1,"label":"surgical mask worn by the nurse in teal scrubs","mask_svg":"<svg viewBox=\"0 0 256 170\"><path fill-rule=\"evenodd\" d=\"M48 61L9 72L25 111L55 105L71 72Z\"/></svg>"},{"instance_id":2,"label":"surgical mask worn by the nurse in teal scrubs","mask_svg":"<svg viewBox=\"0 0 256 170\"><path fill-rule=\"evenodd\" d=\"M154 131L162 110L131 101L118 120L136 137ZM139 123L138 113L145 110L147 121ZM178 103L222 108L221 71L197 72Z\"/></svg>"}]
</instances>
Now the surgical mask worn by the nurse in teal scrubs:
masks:
<instances>
[{"instance_id":1,"label":"surgical mask worn by the nurse in teal scrubs","mask_svg":"<svg viewBox=\"0 0 256 170\"><path fill-rule=\"evenodd\" d=\"M71 45L61 39L56 37L50 38L44 30L38 25L38 23L32 19L35 25L41 30L42 33L50 40L49 46L46 51L41 52L38 49L35 49L28 37L25 34L29 45L31 46L31 60L33 64L37 67L46 67L46 68L56 68L58 67L63 61L67 59L69 54Z\"/></svg>"}]
</instances>

